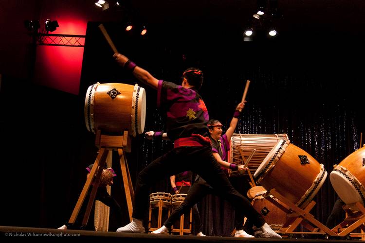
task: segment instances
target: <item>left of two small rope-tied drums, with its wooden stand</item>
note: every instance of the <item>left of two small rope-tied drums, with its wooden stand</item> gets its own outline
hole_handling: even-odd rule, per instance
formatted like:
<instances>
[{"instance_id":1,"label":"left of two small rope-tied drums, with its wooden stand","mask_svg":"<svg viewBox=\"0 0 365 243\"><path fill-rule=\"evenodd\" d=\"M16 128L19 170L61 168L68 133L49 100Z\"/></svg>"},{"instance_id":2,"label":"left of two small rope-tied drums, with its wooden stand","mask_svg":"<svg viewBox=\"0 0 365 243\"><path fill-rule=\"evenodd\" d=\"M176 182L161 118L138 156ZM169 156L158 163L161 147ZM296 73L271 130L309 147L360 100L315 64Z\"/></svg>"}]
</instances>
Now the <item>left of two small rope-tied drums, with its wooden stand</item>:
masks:
<instances>
[{"instance_id":1,"label":"left of two small rope-tied drums, with its wooden stand","mask_svg":"<svg viewBox=\"0 0 365 243\"><path fill-rule=\"evenodd\" d=\"M163 225L163 210L167 210L167 217L171 214L171 194L165 192L155 192L149 195L149 214L148 214L148 232L159 229ZM152 209L158 209L157 226L152 225Z\"/></svg>"}]
</instances>

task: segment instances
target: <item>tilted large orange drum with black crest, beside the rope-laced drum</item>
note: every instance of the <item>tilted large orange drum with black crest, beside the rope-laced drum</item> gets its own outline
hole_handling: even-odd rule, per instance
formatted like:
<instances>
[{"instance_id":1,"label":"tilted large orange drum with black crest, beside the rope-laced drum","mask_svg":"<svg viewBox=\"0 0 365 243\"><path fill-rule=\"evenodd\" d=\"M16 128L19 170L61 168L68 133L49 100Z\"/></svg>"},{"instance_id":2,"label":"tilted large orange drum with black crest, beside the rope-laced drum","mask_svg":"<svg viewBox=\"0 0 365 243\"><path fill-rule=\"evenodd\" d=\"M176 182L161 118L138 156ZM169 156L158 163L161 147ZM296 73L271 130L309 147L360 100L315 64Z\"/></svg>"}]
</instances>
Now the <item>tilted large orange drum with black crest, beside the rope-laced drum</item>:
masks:
<instances>
[{"instance_id":1,"label":"tilted large orange drum with black crest, beside the rope-laced drum","mask_svg":"<svg viewBox=\"0 0 365 243\"><path fill-rule=\"evenodd\" d=\"M327 172L310 154L280 140L254 177L267 191L275 189L299 208L305 208L326 180Z\"/></svg>"}]
</instances>

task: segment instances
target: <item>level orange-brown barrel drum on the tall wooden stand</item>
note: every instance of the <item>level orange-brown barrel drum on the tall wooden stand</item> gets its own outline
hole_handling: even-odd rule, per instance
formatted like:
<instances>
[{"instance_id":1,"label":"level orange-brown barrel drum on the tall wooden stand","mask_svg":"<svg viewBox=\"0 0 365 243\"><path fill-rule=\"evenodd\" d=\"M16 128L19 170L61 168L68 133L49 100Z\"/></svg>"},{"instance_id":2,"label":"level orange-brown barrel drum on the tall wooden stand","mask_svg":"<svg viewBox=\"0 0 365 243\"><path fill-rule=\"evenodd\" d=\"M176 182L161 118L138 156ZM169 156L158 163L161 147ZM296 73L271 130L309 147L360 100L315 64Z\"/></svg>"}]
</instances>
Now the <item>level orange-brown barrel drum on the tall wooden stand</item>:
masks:
<instances>
[{"instance_id":1,"label":"level orange-brown barrel drum on the tall wooden stand","mask_svg":"<svg viewBox=\"0 0 365 243\"><path fill-rule=\"evenodd\" d=\"M90 132L109 134L143 133L146 120L146 92L138 85L94 84L85 98L85 123Z\"/></svg>"}]
</instances>

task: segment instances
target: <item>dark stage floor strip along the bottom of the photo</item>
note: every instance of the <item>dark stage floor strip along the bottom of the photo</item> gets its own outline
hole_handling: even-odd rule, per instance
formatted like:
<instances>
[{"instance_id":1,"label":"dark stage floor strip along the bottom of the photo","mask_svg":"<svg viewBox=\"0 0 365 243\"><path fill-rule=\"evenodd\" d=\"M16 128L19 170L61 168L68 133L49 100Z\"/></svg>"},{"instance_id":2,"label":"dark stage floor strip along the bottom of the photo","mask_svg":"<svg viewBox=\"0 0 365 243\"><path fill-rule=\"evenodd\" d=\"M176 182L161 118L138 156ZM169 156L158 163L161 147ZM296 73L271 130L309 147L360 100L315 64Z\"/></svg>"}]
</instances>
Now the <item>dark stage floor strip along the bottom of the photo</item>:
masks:
<instances>
[{"instance_id":1,"label":"dark stage floor strip along the bottom of the photo","mask_svg":"<svg viewBox=\"0 0 365 243\"><path fill-rule=\"evenodd\" d=\"M303 233L304 234L304 233ZM293 235L292 238L270 239L270 238L235 238L235 237L217 237L217 236L191 236L191 235L151 235L151 234L134 234L134 233L116 233L116 232L100 232L88 230L59 230L51 228L32 228L32 227L14 227L14 226L0 226L1 242L10 240L18 240L16 238L33 238L34 240L54 241L56 239L65 241L84 241L97 240L101 243L122 241L126 243L148 242L148 243L203 243L203 242L326 242L326 243L341 243L350 241L359 241L361 238L345 239L304 239L303 235ZM318 235L317 235L318 236ZM296 238L298 237L298 238Z\"/></svg>"}]
</instances>

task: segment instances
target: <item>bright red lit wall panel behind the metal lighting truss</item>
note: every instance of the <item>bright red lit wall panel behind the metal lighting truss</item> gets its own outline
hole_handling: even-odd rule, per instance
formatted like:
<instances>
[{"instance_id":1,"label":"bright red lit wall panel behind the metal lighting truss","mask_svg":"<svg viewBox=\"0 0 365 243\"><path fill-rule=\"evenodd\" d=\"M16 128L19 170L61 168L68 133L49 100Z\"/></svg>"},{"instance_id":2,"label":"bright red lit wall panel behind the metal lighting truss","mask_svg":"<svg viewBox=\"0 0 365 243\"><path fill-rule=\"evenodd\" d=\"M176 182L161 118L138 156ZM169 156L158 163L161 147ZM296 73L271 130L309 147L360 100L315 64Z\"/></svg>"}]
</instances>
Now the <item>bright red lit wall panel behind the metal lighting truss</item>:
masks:
<instances>
[{"instance_id":1,"label":"bright red lit wall panel behind the metal lighting truss","mask_svg":"<svg viewBox=\"0 0 365 243\"><path fill-rule=\"evenodd\" d=\"M46 19L57 20L59 27L49 34L85 35L87 18L72 1L44 3L40 17L44 33ZM37 46L34 82L38 85L78 94L84 48L64 46Z\"/></svg>"}]
</instances>

